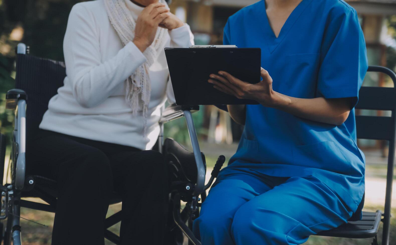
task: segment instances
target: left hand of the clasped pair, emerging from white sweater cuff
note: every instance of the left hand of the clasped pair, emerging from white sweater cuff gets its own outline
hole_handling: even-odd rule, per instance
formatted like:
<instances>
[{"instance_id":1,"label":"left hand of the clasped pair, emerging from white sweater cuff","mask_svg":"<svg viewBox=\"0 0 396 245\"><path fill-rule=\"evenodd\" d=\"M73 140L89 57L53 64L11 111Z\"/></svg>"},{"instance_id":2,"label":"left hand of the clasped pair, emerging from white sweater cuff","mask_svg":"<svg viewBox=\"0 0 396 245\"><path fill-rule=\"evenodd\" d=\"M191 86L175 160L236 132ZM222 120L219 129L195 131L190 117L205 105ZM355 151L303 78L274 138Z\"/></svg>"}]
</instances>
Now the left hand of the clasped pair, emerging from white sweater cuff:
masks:
<instances>
[{"instance_id":1,"label":"left hand of the clasped pair, emerging from white sweater cuff","mask_svg":"<svg viewBox=\"0 0 396 245\"><path fill-rule=\"evenodd\" d=\"M148 5L137 17L133 43L143 53L154 41L158 25L169 17L169 8L156 2Z\"/></svg>"}]
</instances>

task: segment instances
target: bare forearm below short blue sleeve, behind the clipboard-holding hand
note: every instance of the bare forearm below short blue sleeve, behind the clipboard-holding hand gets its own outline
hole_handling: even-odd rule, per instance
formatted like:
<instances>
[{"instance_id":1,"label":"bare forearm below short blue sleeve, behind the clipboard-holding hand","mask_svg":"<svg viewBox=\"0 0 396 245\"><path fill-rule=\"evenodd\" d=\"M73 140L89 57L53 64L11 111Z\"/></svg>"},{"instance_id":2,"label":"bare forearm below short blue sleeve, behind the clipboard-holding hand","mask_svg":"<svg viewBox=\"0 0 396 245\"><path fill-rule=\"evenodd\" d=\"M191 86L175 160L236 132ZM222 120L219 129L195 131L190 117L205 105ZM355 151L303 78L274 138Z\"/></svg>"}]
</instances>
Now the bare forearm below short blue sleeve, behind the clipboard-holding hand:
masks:
<instances>
[{"instance_id":1,"label":"bare forearm below short blue sleeve, behind the clipboard-holding hand","mask_svg":"<svg viewBox=\"0 0 396 245\"><path fill-rule=\"evenodd\" d=\"M341 125L348 118L350 112L351 98L301 99L275 93L276 103L272 107L304 119Z\"/></svg>"}]
</instances>

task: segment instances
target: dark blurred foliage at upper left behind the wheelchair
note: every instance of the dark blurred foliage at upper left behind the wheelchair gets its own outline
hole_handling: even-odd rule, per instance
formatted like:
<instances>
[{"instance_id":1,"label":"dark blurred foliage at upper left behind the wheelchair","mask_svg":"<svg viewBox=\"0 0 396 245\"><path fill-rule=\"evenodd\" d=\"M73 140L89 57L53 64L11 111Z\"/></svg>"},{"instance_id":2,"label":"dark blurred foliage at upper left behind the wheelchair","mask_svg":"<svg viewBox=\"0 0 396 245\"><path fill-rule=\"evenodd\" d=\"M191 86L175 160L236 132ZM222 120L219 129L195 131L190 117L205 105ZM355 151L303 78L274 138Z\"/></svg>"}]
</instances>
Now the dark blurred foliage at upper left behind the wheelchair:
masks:
<instances>
[{"instance_id":1,"label":"dark blurred foliage at upper left behind the wheelchair","mask_svg":"<svg viewBox=\"0 0 396 245\"><path fill-rule=\"evenodd\" d=\"M30 46L30 54L63 60L63 36L72 6L82 0L0 0L0 132L10 134L11 111L4 109L5 93L15 85L15 47ZM20 27L22 40L12 40ZM8 137L10 138L10 137Z\"/></svg>"}]
</instances>

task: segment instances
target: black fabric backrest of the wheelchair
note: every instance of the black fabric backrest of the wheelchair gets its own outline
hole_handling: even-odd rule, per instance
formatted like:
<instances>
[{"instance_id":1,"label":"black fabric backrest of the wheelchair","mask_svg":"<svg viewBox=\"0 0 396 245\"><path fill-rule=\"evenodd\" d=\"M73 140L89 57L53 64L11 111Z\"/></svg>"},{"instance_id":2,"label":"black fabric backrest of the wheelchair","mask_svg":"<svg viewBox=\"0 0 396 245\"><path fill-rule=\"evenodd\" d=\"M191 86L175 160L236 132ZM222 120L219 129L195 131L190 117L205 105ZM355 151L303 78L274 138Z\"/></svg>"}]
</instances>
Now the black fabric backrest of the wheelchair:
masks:
<instances>
[{"instance_id":1,"label":"black fabric backrest of the wheelchair","mask_svg":"<svg viewBox=\"0 0 396 245\"><path fill-rule=\"evenodd\" d=\"M63 62L17 54L15 88L25 90L27 94L27 141L37 132L49 100L63 86L65 77Z\"/></svg>"}]
</instances>

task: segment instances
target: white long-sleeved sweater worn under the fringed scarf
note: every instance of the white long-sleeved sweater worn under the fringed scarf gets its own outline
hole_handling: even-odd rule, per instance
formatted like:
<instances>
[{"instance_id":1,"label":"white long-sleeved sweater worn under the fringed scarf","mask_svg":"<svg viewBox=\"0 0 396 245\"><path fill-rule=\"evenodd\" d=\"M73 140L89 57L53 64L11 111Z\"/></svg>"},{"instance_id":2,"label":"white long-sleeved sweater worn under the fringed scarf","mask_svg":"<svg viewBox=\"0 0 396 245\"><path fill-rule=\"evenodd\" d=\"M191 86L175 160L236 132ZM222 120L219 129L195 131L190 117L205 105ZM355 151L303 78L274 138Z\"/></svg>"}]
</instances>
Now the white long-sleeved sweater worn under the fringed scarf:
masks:
<instances>
[{"instance_id":1,"label":"white long-sleeved sweater worn under the fringed scarf","mask_svg":"<svg viewBox=\"0 0 396 245\"><path fill-rule=\"evenodd\" d=\"M143 8L125 0L136 20ZM69 15L63 42L66 77L64 86L49 101L40 128L142 150L151 149L158 138L166 96L174 102L165 47L193 44L190 27L171 30L166 45L150 67L151 96L147 113L147 134L143 116L133 116L125 100L125 81L146 60L132 43L123 47L103 0L76 4Z\"/></svg>"}]
</instances>

